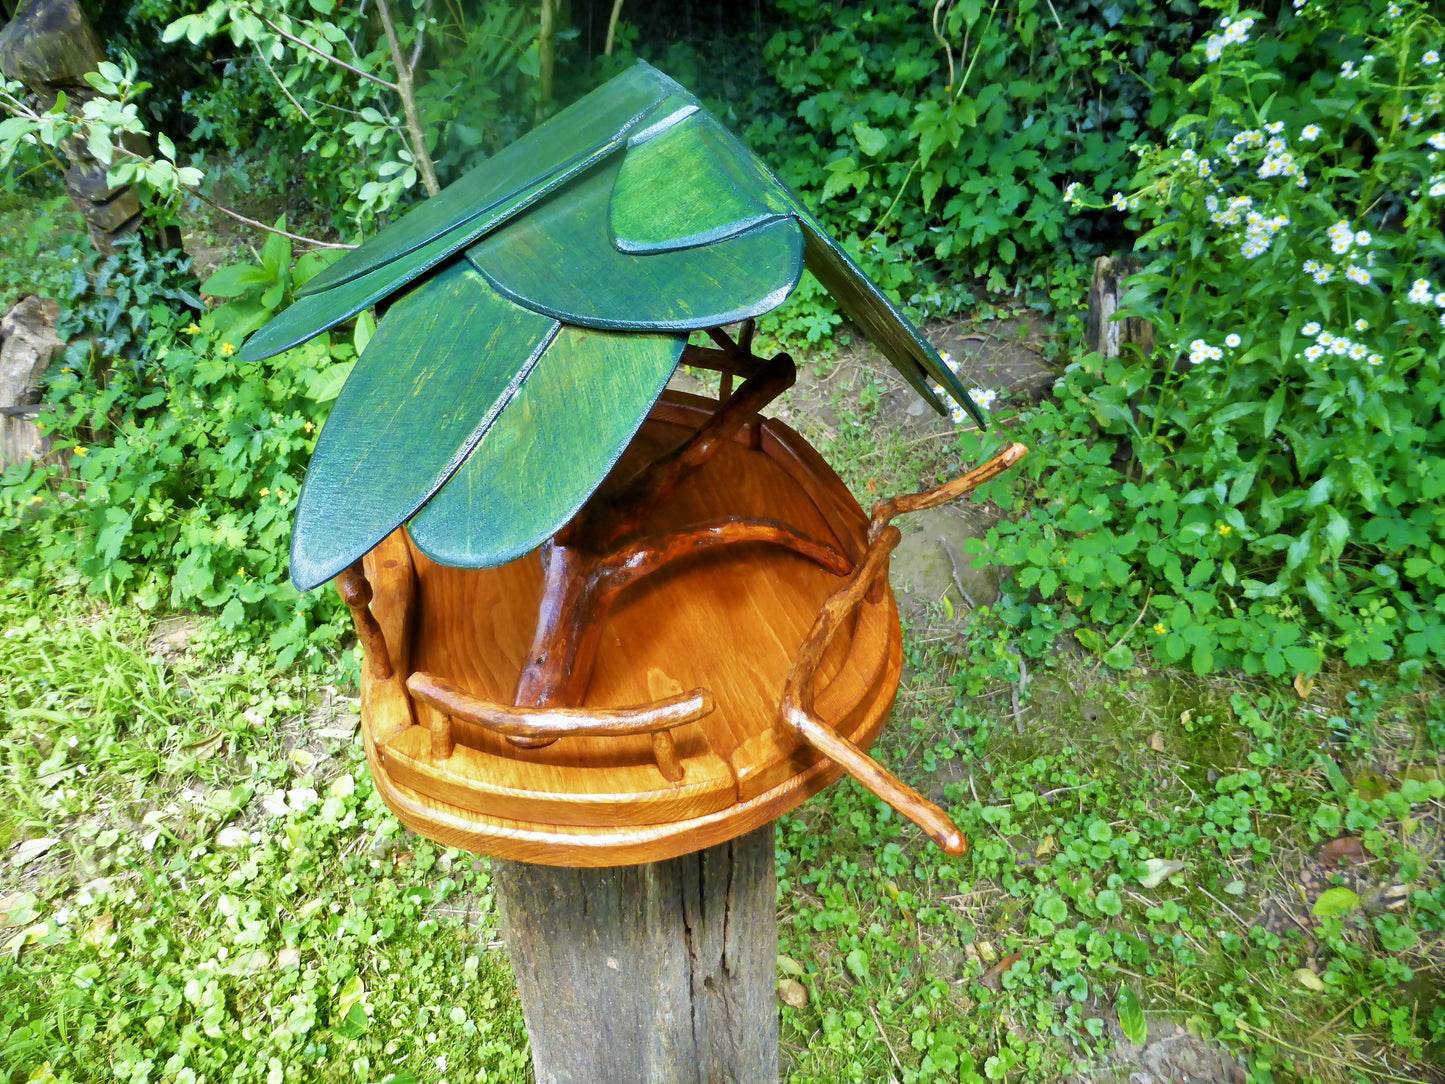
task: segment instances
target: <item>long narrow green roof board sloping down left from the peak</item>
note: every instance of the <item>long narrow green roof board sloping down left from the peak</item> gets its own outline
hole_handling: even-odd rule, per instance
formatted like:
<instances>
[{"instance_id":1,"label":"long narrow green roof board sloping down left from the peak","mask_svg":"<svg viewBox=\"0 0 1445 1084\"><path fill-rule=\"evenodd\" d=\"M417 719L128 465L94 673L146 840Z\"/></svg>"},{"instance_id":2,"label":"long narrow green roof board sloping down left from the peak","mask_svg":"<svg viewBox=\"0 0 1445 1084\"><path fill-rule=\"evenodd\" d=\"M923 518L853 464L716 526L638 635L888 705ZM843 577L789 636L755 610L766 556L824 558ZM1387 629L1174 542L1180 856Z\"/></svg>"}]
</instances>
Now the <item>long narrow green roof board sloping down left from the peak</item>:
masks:
<instances>
[{"instance_id":1,"label":"long narrow green roof board sloping down left from the peak","mask_svg":"<svg viewBox=\"0 0 1445 1084\"><path fill-rule=\"evenodd\" d=\"M374 272L428 244L434 237L474 224L474 220L486 214L487 223L458 241L458 247L467 244L519 207L616 152L627 132L653 106L668 94L678 93L685 94L656 68L646 64L629 68L499 150L360 249L347 253L308 282L302 293L328 291Z\"/></svg>"}]
</instances>

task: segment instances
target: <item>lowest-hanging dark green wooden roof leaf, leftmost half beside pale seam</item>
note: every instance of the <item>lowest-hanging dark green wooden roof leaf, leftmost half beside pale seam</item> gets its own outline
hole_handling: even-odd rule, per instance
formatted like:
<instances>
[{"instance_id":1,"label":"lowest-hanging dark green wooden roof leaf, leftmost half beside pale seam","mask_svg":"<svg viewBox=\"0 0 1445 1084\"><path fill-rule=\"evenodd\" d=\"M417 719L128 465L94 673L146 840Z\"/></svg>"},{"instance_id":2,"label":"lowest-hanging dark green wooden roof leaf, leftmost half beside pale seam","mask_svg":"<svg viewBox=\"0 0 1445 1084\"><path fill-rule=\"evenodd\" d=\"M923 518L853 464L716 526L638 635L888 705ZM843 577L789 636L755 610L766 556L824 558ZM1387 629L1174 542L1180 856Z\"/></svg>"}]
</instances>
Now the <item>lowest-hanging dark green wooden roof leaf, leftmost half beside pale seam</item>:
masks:
<instances>
[{"instance_id":1,"label":"lowest-hanging dark green wooden roof leaf, leftmost half beside pale seam","mask_svg":"<svg viewBox=\"0 0 1445 1084\"><path fill-rule=\"evenodd\" d=\"M296 507L290 578L306 591L442 487L555 337L464 260L386 314L337 397Z\"/></svg>"}]
</instances>

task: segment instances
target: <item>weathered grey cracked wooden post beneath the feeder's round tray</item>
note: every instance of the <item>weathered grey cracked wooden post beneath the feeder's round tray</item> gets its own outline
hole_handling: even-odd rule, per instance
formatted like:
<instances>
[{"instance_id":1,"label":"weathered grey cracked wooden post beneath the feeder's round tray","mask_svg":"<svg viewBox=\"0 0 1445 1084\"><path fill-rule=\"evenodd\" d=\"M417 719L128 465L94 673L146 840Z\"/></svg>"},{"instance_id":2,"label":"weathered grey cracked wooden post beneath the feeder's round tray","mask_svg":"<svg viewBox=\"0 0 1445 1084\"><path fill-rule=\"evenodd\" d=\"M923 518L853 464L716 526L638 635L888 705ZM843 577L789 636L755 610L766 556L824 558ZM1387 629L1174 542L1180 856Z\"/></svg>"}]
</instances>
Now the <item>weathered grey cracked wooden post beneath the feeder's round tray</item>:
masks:
<instances>
[{"instance_id":1,"label":"weathered grey cracked wooden post beneath the feeder's round tray","mask_svg":"<svg viewBox=\"0 0 1445 1084\"><path fill-rule=\"evenodd\" d=\"M646 866L493 860L538 1084L777 1080L773 825Z\"/></svg>"}]
</instances>

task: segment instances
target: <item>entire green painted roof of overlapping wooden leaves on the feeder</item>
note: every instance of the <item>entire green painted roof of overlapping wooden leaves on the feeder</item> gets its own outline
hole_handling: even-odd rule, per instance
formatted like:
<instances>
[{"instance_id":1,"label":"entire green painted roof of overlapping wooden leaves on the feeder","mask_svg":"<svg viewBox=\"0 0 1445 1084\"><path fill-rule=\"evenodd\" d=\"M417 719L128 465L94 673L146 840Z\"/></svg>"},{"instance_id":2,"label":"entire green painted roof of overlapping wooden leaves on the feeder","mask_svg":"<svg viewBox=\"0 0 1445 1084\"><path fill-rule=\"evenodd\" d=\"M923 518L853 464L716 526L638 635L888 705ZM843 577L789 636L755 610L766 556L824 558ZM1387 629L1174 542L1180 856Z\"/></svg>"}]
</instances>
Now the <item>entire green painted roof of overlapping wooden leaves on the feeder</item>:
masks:
<instances>
[{"instance_id":1,"label":"entire green painted roof of overlapping wooden leaves on the feeder","mask_svg":"<svg viewBox=\"0 0 1445 1084\"><path fill-rule=\"evenodd\" d=\"M780 305L806 266L909 383L958 377L747 147L639 64L306 283L241 357L390 299L316 442L292 580L325 582L410 520L484 568L536 548L601 484L686 332Z\"/></svg>"}]
</instances>

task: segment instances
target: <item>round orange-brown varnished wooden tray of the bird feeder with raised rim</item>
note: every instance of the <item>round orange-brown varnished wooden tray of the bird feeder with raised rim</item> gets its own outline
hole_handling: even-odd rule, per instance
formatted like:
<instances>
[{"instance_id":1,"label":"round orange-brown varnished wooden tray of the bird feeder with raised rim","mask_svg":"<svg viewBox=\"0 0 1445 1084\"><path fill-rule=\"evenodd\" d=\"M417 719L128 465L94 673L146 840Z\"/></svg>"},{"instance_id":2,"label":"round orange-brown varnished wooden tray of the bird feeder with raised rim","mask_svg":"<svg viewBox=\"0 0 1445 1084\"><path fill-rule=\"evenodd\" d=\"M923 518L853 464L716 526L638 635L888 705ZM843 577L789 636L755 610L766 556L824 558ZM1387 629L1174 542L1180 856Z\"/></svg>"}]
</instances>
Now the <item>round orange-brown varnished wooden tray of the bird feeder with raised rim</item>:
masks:
<instances>
[{"instance_id":1,"label":"round orange-brown varnished wooden tray of the bird feeder with raised rim","mask_svg":"<svg viewBox=\"0 0 1445 1084\"><path fill-rule=\"evenodd\" d=\"M681 444L715 403L666 393L616 476ZM605 491L605 487L604 487ZM796 432L759 419L689 476L649 532L721 516L780 519L857 561L867 516ZM451 756L432 756L436 710L405 685L413 671L512 702L532 640L540 567L460 569L422 555L397 529L364 561L371 610L393 645L389 678L366 668L367 759L386 804L439 843L552 866L657 861L767 824L842 769L777 726L783 682L818 610L841 580L782 546L747 543L678 561L629 587L604 626L584 705L659 700L696 687L715 710L672 731L682 778L657 769L652 740L564 737L523 749L452 720ZM902 633L893 593L864 600L834 637L816 714L861 749L897 691Z\"/></svg>"}]
</instances>

